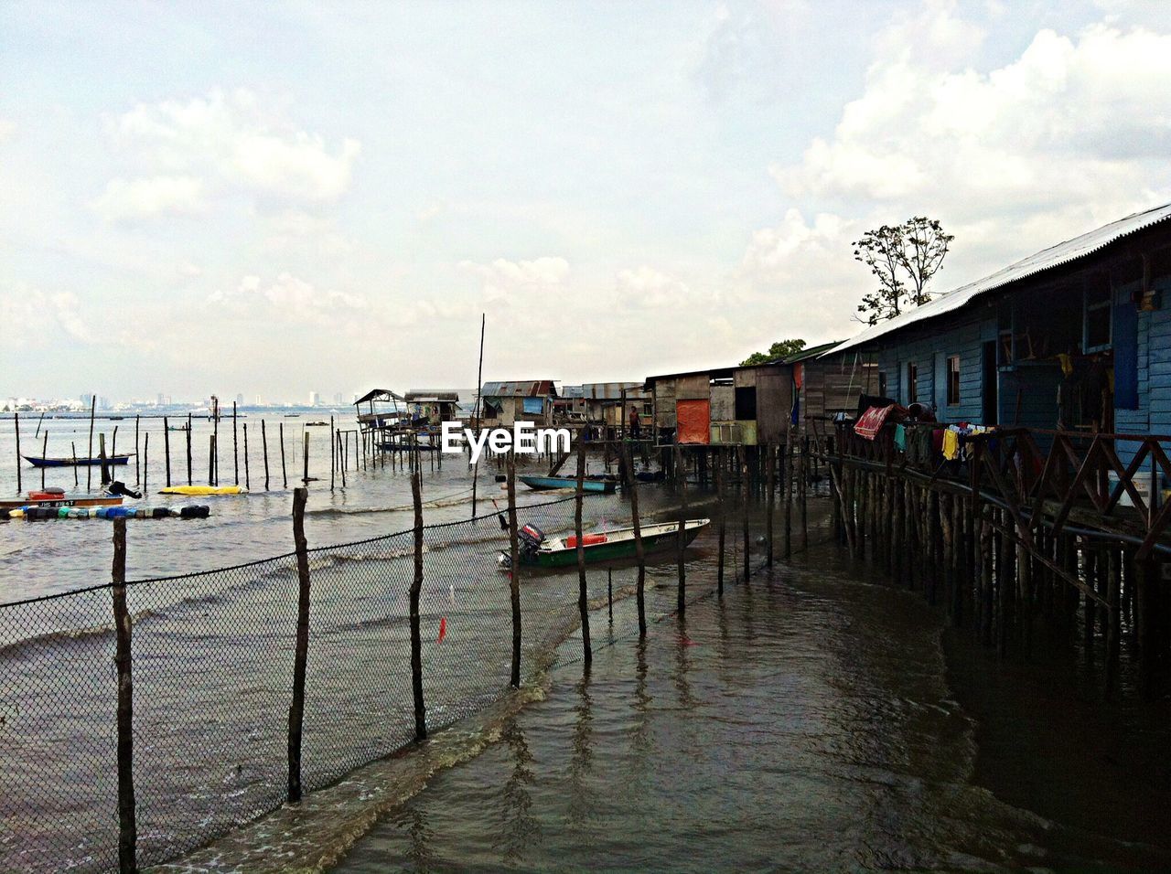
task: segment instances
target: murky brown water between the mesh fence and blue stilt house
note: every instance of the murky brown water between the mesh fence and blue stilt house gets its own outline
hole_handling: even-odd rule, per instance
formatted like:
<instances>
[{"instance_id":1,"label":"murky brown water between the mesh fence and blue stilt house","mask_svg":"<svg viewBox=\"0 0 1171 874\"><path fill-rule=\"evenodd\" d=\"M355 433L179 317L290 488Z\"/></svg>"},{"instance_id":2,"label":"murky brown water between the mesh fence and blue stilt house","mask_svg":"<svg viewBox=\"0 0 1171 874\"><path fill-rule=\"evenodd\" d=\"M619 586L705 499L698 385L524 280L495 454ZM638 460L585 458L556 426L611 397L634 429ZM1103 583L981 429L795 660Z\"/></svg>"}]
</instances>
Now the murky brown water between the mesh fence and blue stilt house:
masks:
<instances>
[{"instance_id":1,"label":"murky brown water between the mesh fence and blue stilt house","mask_svg":"<svg viewBox=\"0 0 1171 874\"><path fill-rule=\"evenodd\" d=\"M645 645L605 627L588 673L555 668L547 700L337 870L1171 867L1171 791L1132 782L1162 758L1157 708L1080 698L1069 660L1055 686L1050 663L998 667L963 635L949 670L940 615L833 546Z\"/></svg>"}]
</instances>

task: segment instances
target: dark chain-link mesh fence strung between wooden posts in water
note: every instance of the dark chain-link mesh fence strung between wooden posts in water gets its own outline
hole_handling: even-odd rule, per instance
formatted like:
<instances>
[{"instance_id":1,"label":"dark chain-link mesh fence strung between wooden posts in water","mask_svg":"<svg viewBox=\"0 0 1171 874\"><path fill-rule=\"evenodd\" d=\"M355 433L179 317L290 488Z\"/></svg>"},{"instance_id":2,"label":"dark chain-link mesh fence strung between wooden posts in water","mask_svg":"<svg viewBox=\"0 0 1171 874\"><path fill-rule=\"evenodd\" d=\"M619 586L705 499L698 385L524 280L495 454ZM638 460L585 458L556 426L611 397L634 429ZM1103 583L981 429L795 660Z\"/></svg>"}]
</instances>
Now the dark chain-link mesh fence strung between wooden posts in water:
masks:
<instances>
[{"instance_id":1,"label":"dark chain-link mesh fence strung between wooden posts in water","mask_svg":"<svg viewBox=\"0 0 1171 874\"><path fill-rule=\"evenodd\" d=\"M573 497L520 507L519 524L564 536L574 510ZM512 606L499 563L508 534L500 518L424 529L419 615L429 730L508 686ZM616 518L611 502L583 501L586 528L626 524L629 515ZM738 524L730 521L730 551ZM131 528L131 553L139 530ZM413 538L409 529L308 551L307 790L415 737ZM730 559L730 579L734 571ZM591 567L590 600L604 604L610 586L619 596L631 591L636 576L634 560ZM576 567L522 569L523 677L547 666L577 627L577 589ZM137 858L150 865L286 800L296 555L131 581L125 591L133 620ZM672 598L649 599L648 613L669 612ZM0 870L117 867L112 615L110 585L0 606ZM632 611L621 621L617 634L637 631Z\"/></svg>"}]
</instances>

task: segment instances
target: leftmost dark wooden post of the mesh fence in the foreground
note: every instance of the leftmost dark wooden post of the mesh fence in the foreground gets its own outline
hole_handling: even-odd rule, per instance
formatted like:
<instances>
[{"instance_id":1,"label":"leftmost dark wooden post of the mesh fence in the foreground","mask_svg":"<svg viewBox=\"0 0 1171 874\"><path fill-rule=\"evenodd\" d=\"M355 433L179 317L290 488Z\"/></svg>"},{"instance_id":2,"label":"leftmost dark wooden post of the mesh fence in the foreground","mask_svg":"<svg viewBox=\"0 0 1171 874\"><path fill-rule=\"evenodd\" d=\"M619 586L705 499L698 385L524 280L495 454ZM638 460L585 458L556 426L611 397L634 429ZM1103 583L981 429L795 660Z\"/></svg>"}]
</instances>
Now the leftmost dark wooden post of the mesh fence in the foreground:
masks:
<instances>
[{"instance_id":1,"label":"leftmost dark wooden post of the mesh fence in the foreground","mask_svg":"<svg viewBox=\"0 0 1171 874\"><path fill-rule=\"evenodd\" d=\"M135 823L135 690L130 674L130 611L126 608L126 521L114 519L114 662L118 670L118 872L138 870Z\"/></svg>"}]
</instances>

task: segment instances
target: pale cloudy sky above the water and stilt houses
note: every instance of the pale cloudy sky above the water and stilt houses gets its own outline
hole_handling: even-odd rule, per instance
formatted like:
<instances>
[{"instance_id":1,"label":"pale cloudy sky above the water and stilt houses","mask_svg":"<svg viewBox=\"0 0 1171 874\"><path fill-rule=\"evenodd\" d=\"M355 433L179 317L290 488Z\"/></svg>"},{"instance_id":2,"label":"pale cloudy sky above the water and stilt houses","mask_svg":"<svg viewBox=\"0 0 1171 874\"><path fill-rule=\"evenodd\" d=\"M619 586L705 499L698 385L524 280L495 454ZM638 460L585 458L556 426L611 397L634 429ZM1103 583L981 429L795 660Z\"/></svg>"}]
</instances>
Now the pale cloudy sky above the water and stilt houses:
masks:
<instances>
[{"instance_id":1,"label":"pale cloudy sky above the water and stilt houses","mask_svg":"<svg viewBox=\"0 0 1171 874\"><path fill-rule=\"evenodd\" d=\"M1171 201L1171 4L0 4L0 397L726 365Z\"/></svg>"}]
</instances>

